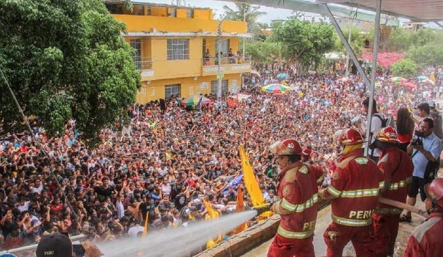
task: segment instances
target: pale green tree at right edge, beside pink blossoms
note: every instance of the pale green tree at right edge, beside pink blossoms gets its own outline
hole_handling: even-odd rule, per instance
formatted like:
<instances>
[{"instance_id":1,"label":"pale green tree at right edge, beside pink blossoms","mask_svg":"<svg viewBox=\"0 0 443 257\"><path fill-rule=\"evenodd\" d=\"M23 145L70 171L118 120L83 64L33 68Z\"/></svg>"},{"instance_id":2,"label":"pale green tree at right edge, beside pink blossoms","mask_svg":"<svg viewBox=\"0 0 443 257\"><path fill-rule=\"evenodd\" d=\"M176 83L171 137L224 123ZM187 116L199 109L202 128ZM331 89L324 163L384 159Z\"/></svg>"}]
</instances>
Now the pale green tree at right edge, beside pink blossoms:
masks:
<instances>
[{"instance_id":1,"label":"pale green tree at right edge, beside pink blossoms","mask_svg":"<svg viewBox=\"0 0 443 257\"><path fill-rule=\"evenodd\" d=\"M421 67L443 65L443 48L438 44L426 44L412 47L406 52L406 57L415 61Z\"/></svg>"}]
</instances>

